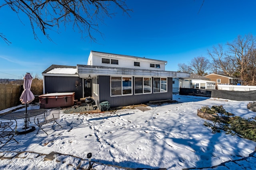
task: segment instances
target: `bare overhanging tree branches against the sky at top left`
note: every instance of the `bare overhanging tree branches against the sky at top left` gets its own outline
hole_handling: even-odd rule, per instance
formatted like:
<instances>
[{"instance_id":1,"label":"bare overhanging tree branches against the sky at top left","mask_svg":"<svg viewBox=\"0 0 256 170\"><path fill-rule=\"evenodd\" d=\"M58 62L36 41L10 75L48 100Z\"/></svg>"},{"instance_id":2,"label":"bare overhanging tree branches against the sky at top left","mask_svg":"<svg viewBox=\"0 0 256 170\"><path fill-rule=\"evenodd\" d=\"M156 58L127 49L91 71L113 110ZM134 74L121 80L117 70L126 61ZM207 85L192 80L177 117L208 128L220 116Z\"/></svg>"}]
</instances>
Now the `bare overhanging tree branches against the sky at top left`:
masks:
<instances>
[{"instance_id":1,"label":"bare overhanging tree branches against the sky at top left","mask_svg":"<svg viewBox=\"0 0 256 170\"><path fill-rule=\"evenodd\" d=\"M90 37L96 41L93 33L98 32L98 22L103 22L104 17L111 18L115 15L112 12L112 4L120 8L123 13L128 14L129 10L125 0L4 0L0 9L9 6L18 15L25 13L32 27L34 38L38 39L36 27L49 39L48 29L70 24L73 29L81 33L82 38ZM128 14L129 15L129 14ZM86 36L84 36L86 34ZM3 33L0 37L10 43Z\"/></svg>"}]
</instances>

